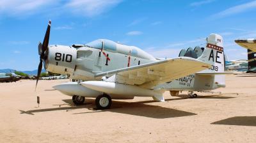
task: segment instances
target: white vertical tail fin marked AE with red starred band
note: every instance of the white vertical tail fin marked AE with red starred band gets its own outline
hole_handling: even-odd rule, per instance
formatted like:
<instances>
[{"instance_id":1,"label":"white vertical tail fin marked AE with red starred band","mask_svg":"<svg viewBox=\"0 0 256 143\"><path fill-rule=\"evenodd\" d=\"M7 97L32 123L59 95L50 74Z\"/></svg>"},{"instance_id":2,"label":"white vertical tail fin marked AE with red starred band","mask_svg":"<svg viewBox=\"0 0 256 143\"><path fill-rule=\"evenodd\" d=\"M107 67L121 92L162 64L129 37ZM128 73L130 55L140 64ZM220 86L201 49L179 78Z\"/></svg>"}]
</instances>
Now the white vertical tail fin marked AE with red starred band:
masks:
<instances>
[{"instance_id":1,"label":"white vertical tail fin marked AE with red starred band","mask_svg":"<svg viewBox=\"0 0 256 143\"><path fill-rule=\"evenodd\" d=\"M207 73L223 73L225 72L225 59L223 51L223 38L219 34L210 34L206 39L207 45L202 53L202 56L198 57L200 61L209 63L212 65L211 69L203 72ZM225 85L225 75L214 75L214 82L218 85Z\"/></svg>"}]
</instances>

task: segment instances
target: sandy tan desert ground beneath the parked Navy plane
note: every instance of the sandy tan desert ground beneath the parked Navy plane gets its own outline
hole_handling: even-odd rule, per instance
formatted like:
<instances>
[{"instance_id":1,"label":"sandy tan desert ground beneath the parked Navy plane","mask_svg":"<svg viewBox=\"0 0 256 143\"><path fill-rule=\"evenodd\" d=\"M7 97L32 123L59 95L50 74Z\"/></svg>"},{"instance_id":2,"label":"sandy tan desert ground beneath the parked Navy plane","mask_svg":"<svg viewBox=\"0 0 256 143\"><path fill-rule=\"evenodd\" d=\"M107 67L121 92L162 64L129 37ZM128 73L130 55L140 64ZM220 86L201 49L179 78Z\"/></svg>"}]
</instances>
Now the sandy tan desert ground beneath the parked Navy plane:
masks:
<instances>
[{"instance_id":1,"label":"sandy tan desert ground beneath the parked Navy plane","mask_svg":"<svg viewBox=\"0 0 256 143\"><path fill-rule=\"evenodd\" d=\"M52 86L69 80L0 83L0 142L256 142L256 75L227 75L226 88L172 97L74 106ZM221 93L218 93L221 92ZM40 106L36 96L40 96Z\"/></svg>"}]
</instances>

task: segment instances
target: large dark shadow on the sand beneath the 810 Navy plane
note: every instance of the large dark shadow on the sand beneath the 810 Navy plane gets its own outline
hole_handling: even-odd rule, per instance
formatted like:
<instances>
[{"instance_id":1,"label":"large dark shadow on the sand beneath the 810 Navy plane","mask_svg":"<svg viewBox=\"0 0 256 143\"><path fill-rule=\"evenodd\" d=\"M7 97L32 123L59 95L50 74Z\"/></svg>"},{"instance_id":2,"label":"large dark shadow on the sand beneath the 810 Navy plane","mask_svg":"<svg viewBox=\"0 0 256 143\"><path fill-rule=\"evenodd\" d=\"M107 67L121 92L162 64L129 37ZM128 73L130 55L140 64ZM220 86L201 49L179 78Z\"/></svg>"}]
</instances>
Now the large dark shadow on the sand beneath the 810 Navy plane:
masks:
<instances>
[{"instance_id":1,"label":"large dark shadow on the sand beneath the 810 Navy plane","mask_svg":"<svg viewBox=\"0 0 256 143\"><path fill-rule=\"evenodd\" d=\"M63 100L63 102L72 105L72 100ZM95 112L116 112L120 114L130 114L134 116L144 116L144 117L152 117L156 119L164 119L170 117L184 117L184 116L194 116L196 115L193 112L186 112L177 109L169 109L166 107L161 107L157 105L147 105L144 103L150 103L151 101L145 102L119 102L113 101L113 105L111 109L108 110L97 110L93 109L95 107L93 99L86 99L86 104L79 106L71 106L71 107L57 107L51 109L36 109L36 110L20 110L20 114L30 114L35 115L37 112L49 112L54 110L74 110L74 109L84 109L87 108L91 111L89 112L78 112L74 114L92 114Z\"/></svg>"}]
</instances>

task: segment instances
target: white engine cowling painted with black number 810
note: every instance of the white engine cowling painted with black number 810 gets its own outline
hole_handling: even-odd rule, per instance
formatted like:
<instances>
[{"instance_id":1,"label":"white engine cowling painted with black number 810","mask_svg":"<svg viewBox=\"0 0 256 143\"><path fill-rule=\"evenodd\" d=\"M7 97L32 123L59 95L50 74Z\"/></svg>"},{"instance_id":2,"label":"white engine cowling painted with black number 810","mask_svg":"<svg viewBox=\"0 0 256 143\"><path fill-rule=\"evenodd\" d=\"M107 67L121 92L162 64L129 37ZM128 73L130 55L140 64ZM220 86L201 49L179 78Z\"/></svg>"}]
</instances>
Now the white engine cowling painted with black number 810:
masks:
<instances>
[{"instance_id":1,"label":"white engine cowling painted with black number 810","mask_svg":"<svg viewBox=\"0 0 256 143\"><path fill-rule=\"evenodd\" d=\"M45 69L52 73L74 73L76 67L77 50L74 47L54 45L47 49Z\"/></svg>"}]
</instances>

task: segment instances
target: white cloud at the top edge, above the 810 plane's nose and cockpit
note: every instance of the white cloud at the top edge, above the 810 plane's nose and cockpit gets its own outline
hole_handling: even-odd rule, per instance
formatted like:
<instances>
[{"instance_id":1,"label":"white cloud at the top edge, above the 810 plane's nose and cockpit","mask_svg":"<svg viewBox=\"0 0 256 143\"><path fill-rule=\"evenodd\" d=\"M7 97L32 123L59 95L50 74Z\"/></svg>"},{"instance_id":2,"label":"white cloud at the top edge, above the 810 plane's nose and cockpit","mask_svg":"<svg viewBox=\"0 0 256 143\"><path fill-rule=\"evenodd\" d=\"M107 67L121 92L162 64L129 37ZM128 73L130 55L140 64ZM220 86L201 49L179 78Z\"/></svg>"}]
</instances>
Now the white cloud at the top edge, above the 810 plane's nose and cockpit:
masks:
<instances>
[{"instance_id":1,"label":"white cloud at the top edge, above the 810 plane's nose and cockpit","mask_svg":"<svg viewBox=\"0 0 256 143\"><path fill-rule=\"evenodd\" d=\"M70 0L65 4L73 13L93 17L113 8L122 0Z\"/></svg>"}]
</instances>

